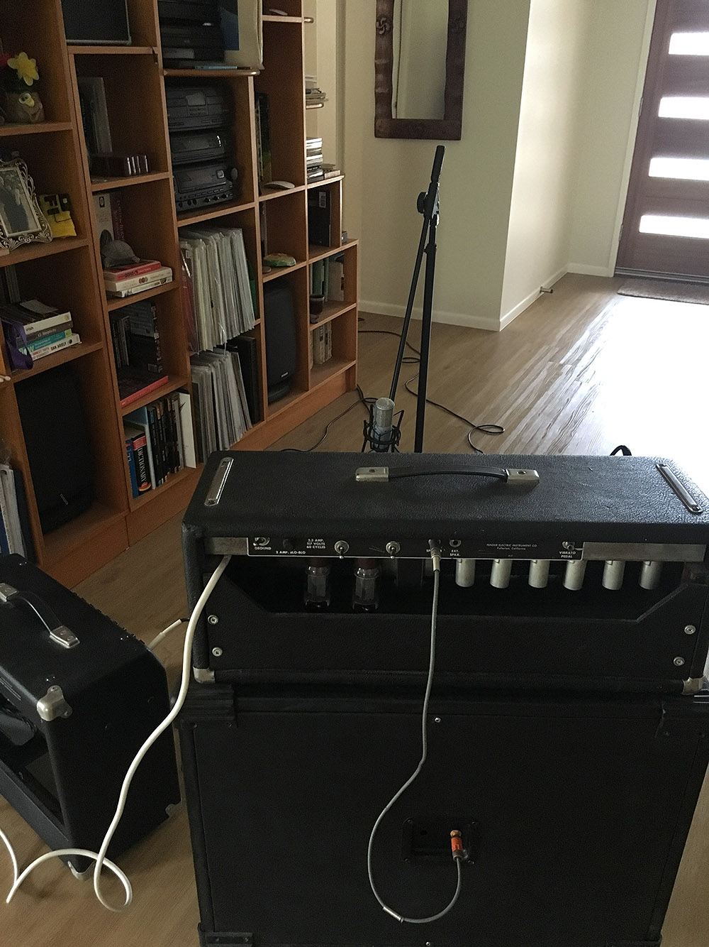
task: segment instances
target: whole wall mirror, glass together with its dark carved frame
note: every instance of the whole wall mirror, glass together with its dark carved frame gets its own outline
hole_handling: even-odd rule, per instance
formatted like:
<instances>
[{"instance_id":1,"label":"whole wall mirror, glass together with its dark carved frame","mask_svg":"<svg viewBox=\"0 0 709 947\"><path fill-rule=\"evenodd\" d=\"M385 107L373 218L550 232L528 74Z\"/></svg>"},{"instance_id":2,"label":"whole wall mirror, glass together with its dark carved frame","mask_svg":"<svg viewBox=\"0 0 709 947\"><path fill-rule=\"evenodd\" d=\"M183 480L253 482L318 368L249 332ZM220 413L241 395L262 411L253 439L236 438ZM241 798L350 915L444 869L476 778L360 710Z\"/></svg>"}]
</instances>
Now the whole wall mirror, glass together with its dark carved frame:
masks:
<instances>
[{"instance_id":1,"label":"whole wall mirror, glass together with its dark carved frame","mask_svg":"<svg viewBox=\"0 0 709 947\"><path fill-rule=\"evenodd\" d=\"M468 0L377 0L377 138L460 138L467 15Z\"/></svg>"}]
</instances>

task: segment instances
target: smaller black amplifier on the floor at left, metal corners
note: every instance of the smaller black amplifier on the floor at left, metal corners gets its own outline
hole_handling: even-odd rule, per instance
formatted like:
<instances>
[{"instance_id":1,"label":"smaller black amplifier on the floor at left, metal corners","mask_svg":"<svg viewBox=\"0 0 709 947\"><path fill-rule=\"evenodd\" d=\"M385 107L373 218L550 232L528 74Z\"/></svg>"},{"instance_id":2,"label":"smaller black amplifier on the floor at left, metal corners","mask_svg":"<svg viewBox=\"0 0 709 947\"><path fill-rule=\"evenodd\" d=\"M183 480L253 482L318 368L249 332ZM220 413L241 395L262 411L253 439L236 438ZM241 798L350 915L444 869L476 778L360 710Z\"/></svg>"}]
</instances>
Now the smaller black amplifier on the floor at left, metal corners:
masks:
<instances>
[{"instance_id":1,"label":"smaller black amplifier on the floor at left, metal corners","mask_svg":"<svg viewBox=\"0 0 709 947\"><path fill-rule=\"evenodd\" d=\"M0 794L52 849L97 851L130 762L169 713L164 668L137 638L21 556L0 557L0 583L41 599L39 607L78 638L63 647L25 602L0 604ZM133 778L109 857L179 802L168 732ZM78 872L91 865L69 861Z\"/></svg>"}]
</instances>

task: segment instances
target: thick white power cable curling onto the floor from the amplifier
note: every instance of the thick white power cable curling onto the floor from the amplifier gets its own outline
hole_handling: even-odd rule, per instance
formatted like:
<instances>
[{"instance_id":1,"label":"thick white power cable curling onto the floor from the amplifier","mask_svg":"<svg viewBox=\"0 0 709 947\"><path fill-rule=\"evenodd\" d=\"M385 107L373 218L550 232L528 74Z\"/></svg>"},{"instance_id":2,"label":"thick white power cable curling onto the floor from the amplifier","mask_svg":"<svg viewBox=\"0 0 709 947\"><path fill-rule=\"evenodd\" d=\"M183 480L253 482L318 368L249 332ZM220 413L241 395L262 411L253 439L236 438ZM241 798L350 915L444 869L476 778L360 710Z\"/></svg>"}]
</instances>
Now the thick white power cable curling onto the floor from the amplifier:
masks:
<instances>
[{"instance_id":1,"label":"thick white power cable curling onto the floor from the amplifier","mask_svg":"<svg viewBox=\"0 0 709 947\"><path fill-rule=\"evenodd\" d=\"M132 781L132 778L135 776L135 772L138 769L138 766L142 762L143 758L147 754L147 751L150 749L152 744L158 739L158 737L162 733L164 733L167 727L170 724L172 724L172 722L175 720L177 715L182 710L182 705L184 704L185 698L187 697L187 688L189 687L189 681L190 681L192 641L195 637L195 628L197 627L199 616L202 613L202 609L204 608L207 602L207 599L209 599L210 595L212 594L212 591L216 585L216 582L219 581L222 572L227 567L227 564L229 563L229 560L231 558L232 558L231 556L224 556L221 562L216 566L214 573L212 574L207 584L204 586L204 591L199 596L197 604L195 605L192 611L192 615L190 616L189 622L187 623L187 631L185 632L185 635L184 635L184 647L182 650L182 681L180 683L180 690L178 692L177 700L175 701L175 705L172 707L172 710L170 710L170 712L165 717L163 723L158 724L158 726L153 730L153 732L150 734L150 736L147 738L147 740L143 743L141 748L135 754L133 761L130 763L128 772L126 773L126 776L123 779L123 785L121 786L121 791L118 796L118 803L115 808L115 813L113 815L112 823L109 826L109 829L106 832L106 835L104 836L103 842L101 844L101 849L98 852L88 851L87 849L58 849L57 851L45 852L45 854L41 855L39 858L36 858L34 862L32 862L31 865L27 866L25 870L22 872L22 874L19 875L18 877L18 873L17 873L18 867L17 867L17 859L15 857L15 853L12 849L12 846L9 843L9 839L6 836L6 834L3 831L0 831L0 838L2 838L3 842L8 847L8 850L9 850L9 855L12 860L12 867L13 867L13 873L14 873L14 881L12 883L12 887L9 890L9 895L6 899L6 903L9 903L12 900L12 897L14 896L19 886L25 881L27 875L35 867L37 867L38 865L41 865L43 862L47 861L50 858L62 858L62 857L71 856L71 855L78 855L84 858L95 859L94 892L98 901L101 902L105 908L107 908L109 911L114 911L118 913L120 911L124 911L127 907L130 906L130 902L132 902L133 900L133 892L130 886L130 881L128 877L123 873L123 871L121 871L121 869L117 865L114 865L112 861L106 858L106 852L108 851L108 848L111 845L113 833L115 832L118 826L118 823L120 822L121 817L123 815L123 810L126 806L126 799L128 797L128 792L130 789L130 783ZM161 632L161 634L158 635L158 637L153 641L153 644L157 642L158 638L163 637L164 634L167 634L177 625L181 624L181 622L182 622L182 619L180 619L180 621L173 622L173 624L170 625L169 628L166 628L164 632ZM100 889L101 868L104 865L107 868L110 868L112 872L116 875L118 880L121 882L121 884L123 884L123 889L126 892L126 900L123 904L121 904L120 907L112 907L112 905L109 902L107 902L104 899L103 895L101 894L101 889Z\"/></svg>"}]
</instances>

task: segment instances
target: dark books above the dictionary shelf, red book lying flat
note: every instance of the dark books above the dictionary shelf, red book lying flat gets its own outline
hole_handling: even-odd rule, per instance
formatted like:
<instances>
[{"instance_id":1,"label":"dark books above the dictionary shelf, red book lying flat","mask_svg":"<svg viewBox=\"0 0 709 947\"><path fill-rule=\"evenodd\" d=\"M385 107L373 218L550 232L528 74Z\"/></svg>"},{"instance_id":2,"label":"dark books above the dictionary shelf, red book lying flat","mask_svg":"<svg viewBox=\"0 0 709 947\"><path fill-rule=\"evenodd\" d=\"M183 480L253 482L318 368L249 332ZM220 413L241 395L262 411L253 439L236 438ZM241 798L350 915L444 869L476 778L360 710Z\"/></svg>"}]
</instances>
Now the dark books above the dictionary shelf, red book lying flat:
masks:
<instances>
[{"instance_id":1,"label":"dark books above the dictionary shelf, red book lying flat","mask_svg":"<svg viewBox=\"0 0 709 947\"><path fill-rule=\"evenodd\" d=\"M111 340L122 407L167 384L157 310L149 299L112 313Z\"/></svg>"}]
</instances>

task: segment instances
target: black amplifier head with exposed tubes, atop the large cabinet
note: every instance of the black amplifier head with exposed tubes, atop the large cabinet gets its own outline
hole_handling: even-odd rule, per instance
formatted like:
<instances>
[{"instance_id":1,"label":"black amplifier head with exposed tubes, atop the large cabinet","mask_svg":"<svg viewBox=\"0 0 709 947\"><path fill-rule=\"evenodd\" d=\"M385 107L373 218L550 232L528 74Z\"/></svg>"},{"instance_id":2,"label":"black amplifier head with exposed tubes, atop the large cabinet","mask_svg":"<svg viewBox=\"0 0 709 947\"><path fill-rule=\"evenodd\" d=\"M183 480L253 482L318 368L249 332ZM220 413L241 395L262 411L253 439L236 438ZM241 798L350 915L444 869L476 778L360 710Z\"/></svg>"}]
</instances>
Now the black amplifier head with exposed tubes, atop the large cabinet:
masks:
<instances>
[{"instance_id":1,"label":"black amplifier head with exposed tubes, atop the large cabinet","mask_svg":"<svg viewBox=\"0 0 709 947\"><path fill-rule=\"evenodd\" d=\"M200 672L217 681L421 681L434 538L443 557L437 680L701 687L709 500L672 465L387 455L387 468L362 468L358 480L364 459L245 451L209 459L183 527L193 604L215 557L233 558L210 599L218 624L199 624ZM330 601L317 616L303 599L313 557L330 563ZM356 576L357 560L381 574Z\"/></svg>"}]
</instances>

